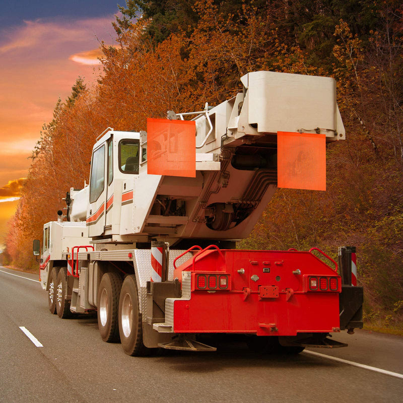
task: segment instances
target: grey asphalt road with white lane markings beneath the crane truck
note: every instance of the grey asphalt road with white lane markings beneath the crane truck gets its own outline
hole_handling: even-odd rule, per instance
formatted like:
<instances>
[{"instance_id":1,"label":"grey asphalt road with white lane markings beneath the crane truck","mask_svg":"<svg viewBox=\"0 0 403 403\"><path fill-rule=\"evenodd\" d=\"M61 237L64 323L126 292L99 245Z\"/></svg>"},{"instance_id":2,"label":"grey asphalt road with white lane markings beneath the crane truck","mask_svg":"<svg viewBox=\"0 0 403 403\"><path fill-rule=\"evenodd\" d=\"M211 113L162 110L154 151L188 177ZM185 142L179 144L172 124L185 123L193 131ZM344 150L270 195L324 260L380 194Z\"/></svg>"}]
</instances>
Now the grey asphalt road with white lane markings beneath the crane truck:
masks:
<instances>
[{"instance_id":1,"label":"grey asphalt road with white lane markings beneath the crane truck","mask_svg":"<svg viewBox=\"0 0 403 403\"><path fill-rule=\"evenodd\" d=\"M102 342L96 317L51 315L47 293L32 280L38 279L0 266L1 402L403 401L402 337L343 332L334 339L349 347L312 349L392 374L309 352L260 356L240 343L216 353L129 357L119 344Z\"/></svg>"}]
</instances>

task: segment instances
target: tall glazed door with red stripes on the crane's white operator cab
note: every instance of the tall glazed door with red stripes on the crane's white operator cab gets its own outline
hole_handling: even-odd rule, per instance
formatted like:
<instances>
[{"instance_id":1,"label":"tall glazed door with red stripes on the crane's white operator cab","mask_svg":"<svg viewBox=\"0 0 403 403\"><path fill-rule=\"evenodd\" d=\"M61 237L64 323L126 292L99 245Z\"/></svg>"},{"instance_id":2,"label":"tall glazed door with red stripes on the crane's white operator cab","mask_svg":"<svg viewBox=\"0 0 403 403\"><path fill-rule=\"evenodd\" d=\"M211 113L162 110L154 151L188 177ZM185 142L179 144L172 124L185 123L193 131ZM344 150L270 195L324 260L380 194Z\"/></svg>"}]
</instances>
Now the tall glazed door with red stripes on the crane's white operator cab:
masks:
<instances>
[{"instance_id":1,"label":"tall glazed door with red stripes on the crane's white operator cab","mask_svg":"<svg viewBox=\"0 0 403 403\"><path fill-rule=\"evenodd\" d=\"M106 156L107 143L101 144L92 153L90 175L90 203L87 211L89 236L104 233L106 210Z\"/></svg>"}]
</instances>

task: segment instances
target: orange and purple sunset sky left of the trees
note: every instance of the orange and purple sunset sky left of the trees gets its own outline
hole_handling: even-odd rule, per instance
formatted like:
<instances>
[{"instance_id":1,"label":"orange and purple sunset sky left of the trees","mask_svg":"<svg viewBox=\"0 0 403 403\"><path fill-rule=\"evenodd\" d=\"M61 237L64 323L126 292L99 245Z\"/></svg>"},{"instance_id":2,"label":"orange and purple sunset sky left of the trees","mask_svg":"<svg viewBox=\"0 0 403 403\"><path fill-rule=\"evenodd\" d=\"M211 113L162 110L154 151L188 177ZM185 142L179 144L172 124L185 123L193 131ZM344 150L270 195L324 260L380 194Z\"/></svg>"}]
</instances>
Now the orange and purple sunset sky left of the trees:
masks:
<instances>
[{"instance_id":1,"label":"orange and purple sunset sky left of the trees","mask_svg":"<svg viewBox=\"0 0 403 403\"><path fill-rule=\"evenodd\" d=\"M100 41L114 43L117 4L125 1L1 1L0 249L41 128L79 76L96 83Z\"/></svg>"}]
</instances>

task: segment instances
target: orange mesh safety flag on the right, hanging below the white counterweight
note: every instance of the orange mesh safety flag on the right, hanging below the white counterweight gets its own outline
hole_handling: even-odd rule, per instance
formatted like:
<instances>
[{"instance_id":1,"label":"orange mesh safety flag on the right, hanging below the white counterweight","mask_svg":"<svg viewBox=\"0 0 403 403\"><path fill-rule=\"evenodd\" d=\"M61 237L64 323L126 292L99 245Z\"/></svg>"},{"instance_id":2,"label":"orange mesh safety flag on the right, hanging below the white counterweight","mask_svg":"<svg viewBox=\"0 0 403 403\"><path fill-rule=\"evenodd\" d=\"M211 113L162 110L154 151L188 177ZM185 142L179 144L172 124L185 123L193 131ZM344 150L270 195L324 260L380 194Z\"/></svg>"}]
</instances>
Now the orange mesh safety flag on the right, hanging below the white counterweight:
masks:
<instances>
[{"instance_id":1,"label":"orange mesh safety flag on the right, hanging below the white counterweight","mask_svg":"<svg viewBox=\"0 0 403 403\"><path fill-rule=\"evenodd\" d=\"M277 185L326 190L326 136L277 132Z\"/></svg>"}]
</instances>

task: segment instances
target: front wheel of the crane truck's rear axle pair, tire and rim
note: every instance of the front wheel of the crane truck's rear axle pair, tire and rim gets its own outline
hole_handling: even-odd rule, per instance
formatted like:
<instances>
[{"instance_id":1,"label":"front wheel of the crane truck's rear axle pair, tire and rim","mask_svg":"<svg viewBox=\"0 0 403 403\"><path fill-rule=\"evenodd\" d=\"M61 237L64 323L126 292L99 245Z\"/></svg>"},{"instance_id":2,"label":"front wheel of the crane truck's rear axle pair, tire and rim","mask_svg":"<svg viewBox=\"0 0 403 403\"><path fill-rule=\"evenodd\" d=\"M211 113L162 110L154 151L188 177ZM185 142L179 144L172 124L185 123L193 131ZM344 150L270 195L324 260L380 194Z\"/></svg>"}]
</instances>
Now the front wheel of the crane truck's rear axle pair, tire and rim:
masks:
<instances>
[{"instance_id":1,"label":"front wheel of the crane truck's rear axle pair, tire and rim","mask_svg":"<svg viewBox=\"0 0 403 403\"><path fill-rule=\"evenodd\" d=\"M122 288L122 279L116 273L105 273L99 285L98 329L104 342L119 341L119 326L117 314L119 309L119 295Z\"/></svg>"}]
</instances>

